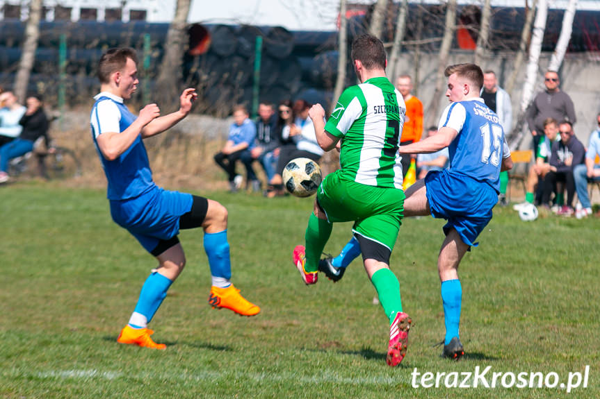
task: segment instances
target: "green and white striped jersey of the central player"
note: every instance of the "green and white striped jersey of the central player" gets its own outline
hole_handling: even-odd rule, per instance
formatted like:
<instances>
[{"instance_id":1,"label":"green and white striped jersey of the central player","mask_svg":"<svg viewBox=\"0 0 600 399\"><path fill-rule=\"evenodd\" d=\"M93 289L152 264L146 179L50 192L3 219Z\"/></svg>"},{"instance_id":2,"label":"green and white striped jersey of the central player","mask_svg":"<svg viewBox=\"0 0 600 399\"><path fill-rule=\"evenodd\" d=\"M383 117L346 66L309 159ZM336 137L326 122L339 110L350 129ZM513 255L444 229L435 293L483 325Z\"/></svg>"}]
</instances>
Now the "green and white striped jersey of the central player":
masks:
<instances>
[{"instance_id":1,"label":"green and white striped jersey of the central player","mask_svg":"<svg viewBox=\"0 0 600 399\"><path fill-rule=\"evenodd\" d=\"M342 139L343 178L377 187L402 188L398 143L406 105L385 77L350 86L341 94L325 130Z\"/></svg>"}]
</instances>

